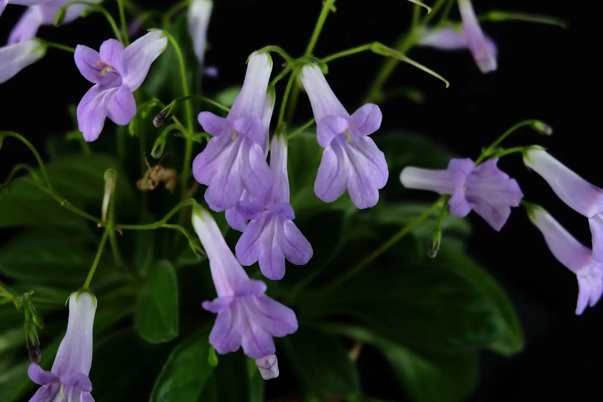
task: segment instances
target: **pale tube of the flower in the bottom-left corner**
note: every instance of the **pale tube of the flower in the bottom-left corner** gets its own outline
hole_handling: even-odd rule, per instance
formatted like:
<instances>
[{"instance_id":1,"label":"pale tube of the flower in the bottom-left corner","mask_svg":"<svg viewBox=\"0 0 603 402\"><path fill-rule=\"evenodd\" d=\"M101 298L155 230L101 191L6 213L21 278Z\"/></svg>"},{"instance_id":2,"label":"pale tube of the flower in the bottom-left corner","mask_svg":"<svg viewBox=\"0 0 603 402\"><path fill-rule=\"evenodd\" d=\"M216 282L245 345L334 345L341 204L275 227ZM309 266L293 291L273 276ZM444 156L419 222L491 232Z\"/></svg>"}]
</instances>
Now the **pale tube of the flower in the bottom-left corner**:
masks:
<instances>
[{"instance_id":1,"label":"pale tube of the flower in the bottom-left corner","mask_svg":"<svg viewBox=\"0 0 603 402\"><path fill-rule=\"evenodd\" d=\"M69 297L69 320L65 338L58 347L51 371L58 377L81 372L90 373L92 365L92 326L96 298L85 292Z\"/></svg>"}]
</instances>

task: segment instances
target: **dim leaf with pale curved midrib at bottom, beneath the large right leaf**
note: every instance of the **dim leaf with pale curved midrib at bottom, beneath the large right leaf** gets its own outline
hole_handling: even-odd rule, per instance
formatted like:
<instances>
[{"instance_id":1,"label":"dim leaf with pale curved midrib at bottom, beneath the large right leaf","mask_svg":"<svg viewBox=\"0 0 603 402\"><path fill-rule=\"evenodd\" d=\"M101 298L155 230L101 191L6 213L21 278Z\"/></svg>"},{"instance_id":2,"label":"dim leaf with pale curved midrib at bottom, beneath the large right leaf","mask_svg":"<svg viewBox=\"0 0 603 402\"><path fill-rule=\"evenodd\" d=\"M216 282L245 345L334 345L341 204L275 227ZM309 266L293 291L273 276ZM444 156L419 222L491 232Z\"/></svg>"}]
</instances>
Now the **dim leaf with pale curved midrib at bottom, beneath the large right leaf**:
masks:
<instances>
[{"instance_id":1,"label":"dim leaf with pale curved midrib at bottom, beneath the large right leaf","mask_svg":"<svg viewBox=\"0 0 603 402\"><path fill-rule=\"evenodd\" d=\"M403 347L365 328L337 324L323 327L379 348L406 392L417 402L461 401L475 388L478 374L475 351L425 353Z\"/></svg>"}]
</instances>

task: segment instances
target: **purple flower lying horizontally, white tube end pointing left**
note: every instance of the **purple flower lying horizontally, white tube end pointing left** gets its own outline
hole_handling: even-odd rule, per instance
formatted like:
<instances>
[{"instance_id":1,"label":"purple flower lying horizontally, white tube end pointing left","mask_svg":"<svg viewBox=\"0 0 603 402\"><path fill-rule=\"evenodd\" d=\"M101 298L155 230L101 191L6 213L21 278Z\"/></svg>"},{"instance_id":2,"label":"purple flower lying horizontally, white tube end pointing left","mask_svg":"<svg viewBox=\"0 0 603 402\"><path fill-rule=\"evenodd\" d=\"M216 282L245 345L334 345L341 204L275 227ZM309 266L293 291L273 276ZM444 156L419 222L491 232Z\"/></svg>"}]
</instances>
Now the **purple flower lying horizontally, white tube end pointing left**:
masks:
<instances>
[{"instance_id":1,"label":"purple flower lying horizontally, white tube end pointing left","mask_svg":"<svg viewBox=\"0 0 603 402\"><path fill-rule=\"evenodd\" d=\"M497 162L490 159L475 166L471 159L452 159L445 171L408 167L400 173L400 181L409 189L452 195L448 201L452 215L463 218L473 209L499 231L523 194L517 181L497 168Z\"/></svg>"}]
</instances>

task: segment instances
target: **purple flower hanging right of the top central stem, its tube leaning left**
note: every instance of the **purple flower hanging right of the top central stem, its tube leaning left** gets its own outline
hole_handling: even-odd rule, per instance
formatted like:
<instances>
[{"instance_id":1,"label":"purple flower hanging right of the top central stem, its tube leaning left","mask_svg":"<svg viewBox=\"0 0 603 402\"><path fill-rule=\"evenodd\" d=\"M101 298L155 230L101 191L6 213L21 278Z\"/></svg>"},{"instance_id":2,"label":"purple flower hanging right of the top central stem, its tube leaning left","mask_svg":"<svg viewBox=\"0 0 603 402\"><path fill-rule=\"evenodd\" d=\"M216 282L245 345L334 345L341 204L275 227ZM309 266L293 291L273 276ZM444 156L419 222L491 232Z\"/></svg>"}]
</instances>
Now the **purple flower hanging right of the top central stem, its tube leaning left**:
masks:
<instances>
[{"instance_id":1,"label":"purple flower hanging right of the top central stem, its tube leaning left","mask_svg":"<svg viewBox=\"0 0 603 402\"><path fill-rule=\"evenodd\" d=\"M381 125L379 106L365 104L350 116L316 64L303 66L300 78L312 104L318 145L324 148L314 192L332 203L347 189L359 209L375 206L389 174L384 153L368 137Z\"/></svg>"}]
</instances>

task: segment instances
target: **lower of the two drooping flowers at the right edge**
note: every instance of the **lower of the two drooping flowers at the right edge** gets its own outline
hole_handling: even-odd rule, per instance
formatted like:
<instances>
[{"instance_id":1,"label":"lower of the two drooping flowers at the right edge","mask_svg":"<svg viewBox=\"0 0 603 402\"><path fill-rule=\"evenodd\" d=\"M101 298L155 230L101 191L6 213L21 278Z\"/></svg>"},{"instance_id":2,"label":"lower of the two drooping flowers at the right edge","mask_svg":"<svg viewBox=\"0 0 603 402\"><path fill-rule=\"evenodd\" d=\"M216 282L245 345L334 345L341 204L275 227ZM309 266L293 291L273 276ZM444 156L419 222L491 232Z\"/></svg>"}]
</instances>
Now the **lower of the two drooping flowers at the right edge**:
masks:
<instances>
[{"instance_id":1,"label":"lower of the two drooping flowers at the right edge","mask_svg":"<svg viewBox=\"0 0 603 402\"><path fill-rule=\"evenodd\" d=\"M595 306L603 292L603 265L593 259L592 250L578 242L545 210L532 207L528 215L545 236L551 253L578 278L576 314L582 314L587 304Z\"/></svg>"}]
</instances>

